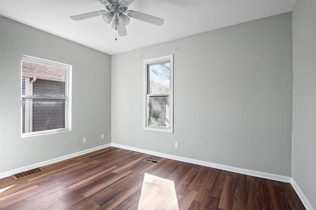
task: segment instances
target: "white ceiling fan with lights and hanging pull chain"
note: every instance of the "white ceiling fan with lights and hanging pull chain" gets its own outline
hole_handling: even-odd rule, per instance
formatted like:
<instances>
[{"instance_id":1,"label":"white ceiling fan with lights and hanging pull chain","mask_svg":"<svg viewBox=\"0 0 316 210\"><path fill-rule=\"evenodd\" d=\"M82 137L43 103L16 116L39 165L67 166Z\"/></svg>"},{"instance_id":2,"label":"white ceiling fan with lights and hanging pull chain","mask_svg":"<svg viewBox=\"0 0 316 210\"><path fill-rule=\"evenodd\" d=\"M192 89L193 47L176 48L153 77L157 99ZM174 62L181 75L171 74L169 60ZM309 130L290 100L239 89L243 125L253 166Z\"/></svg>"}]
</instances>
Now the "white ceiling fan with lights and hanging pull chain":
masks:
<instances>
[{"instance_id":1,"label":"white ceiling fan with lights and hanging pull chain","mask_svg":"<svg viewBox=\"0 0 316 210\"><path fill-rule=\"evenodd\" d=\"M94 12L83 13L80 15L70 16L72 20L83 20L102 15L103 20L106 23L111 23L112 28L117 30L119 36L127 35L126 25L129 23L129 17L142 20L148 23L161 26L163 19L154 17L148 14L137 12L134 10L128 10L128 6L135 0L99 0L105 5L107 10L99 10ZM115 39L117 40L117 38Z\"/></svg>"}]
</instances>

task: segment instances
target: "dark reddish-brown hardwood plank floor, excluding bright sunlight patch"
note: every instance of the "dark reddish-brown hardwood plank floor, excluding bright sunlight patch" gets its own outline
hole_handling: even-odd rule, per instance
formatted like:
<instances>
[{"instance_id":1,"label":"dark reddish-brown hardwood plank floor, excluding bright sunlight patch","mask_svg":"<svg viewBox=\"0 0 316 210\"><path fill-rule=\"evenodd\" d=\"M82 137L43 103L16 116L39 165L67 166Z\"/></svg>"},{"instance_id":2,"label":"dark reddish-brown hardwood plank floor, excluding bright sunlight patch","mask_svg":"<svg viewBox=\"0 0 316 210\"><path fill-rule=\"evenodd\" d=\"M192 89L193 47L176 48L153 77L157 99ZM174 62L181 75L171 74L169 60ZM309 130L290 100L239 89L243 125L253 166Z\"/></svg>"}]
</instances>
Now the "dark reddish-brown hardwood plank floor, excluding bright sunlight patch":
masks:
<instances>
[{"instance_id":1,"label":"dark reddish-brown hardwood plank floor, excluding bright sunlight patch","mask_svg":"<svg viewBox=\"0 0 316 210\"><path fill-rule=\"evenodd\" d=\"M158 164L144 162L149 158ZM174 181L180 210L305 210L289 183L109 147L0 179L0 209L136 210L144 174Z\"/></svg>"}]
</instances>

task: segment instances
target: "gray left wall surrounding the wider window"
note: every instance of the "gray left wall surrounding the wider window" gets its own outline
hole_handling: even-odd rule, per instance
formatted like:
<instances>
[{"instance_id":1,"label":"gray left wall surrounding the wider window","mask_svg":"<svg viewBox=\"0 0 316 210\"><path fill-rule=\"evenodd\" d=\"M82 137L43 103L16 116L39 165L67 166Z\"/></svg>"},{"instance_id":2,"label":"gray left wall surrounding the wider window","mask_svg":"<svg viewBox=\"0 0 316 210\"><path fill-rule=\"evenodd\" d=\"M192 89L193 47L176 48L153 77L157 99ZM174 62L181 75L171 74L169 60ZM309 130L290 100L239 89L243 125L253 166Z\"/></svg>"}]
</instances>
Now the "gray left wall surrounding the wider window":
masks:
<instances>
[{"instance_id":1,"label":"gray left wall surrounding the wider window","mask_svg":"<svg viewBox=\"0 0 316 210\"><path fill-rule=\"evenodd\" d=\"M0 27L0 172L110 143L111 56L5 17ZM21 138L21 54L73 65L72 131Z\"/></svg>"}]
</instances>

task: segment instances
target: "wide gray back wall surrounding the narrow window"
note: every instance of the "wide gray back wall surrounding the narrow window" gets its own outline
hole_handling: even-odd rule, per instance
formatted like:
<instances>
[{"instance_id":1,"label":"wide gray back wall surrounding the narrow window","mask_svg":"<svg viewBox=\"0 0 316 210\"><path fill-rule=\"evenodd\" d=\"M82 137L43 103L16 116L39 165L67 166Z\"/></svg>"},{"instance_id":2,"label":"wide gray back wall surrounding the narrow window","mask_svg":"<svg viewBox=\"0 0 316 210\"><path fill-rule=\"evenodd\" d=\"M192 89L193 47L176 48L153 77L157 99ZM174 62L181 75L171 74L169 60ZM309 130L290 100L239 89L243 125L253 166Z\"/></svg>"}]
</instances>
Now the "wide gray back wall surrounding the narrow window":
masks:
<instances>
[{"instance_id":1,"label":"wide gray back wall surrounding the narrow window","mask_svg":"<svg viewBox=\"0 0 316 210\"><path fill-rule=\"evenodd\" d=\"M284 13L113 55L112 142L291 176L291 24ZM168 54L174 133L145 131L143 60Z\"/></svg>"}]
</instances>

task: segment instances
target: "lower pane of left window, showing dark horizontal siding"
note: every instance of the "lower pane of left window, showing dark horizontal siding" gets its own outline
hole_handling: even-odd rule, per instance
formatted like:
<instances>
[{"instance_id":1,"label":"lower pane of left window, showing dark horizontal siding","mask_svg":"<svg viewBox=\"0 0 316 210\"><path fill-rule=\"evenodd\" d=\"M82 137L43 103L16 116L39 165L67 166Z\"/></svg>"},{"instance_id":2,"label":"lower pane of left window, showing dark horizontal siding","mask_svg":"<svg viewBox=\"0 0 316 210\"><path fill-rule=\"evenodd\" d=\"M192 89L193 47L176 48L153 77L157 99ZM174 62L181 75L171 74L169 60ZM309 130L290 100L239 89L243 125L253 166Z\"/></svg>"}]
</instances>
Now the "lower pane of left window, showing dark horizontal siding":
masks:
<instances>
[{"instance_id":1,"label":"lower pane of left window, showing dark horizontal siding","mask_svg":"<svg viewBox=\"0 0 316 210\"><path fill-rule=\"evenodd\" d=\"M23 99L22 132L47 131L65 128L65 101L48 99ZM32 105L28 106L28 103ZM28 114L32 117L28 121Z\"/></svg>"}]
</instances>

